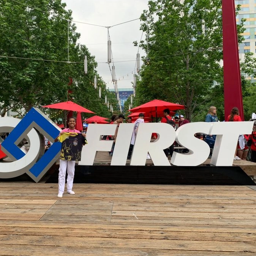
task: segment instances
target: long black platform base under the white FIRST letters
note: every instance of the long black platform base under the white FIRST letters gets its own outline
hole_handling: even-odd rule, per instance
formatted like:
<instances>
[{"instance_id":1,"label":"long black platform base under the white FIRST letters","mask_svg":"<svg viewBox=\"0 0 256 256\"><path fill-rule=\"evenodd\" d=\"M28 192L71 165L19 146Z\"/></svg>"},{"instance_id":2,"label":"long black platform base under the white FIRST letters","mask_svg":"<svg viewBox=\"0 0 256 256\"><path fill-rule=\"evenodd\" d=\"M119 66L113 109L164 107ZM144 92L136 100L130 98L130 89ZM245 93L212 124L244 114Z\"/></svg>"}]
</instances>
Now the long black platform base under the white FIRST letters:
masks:
<instances>
[{"instance_id":1,"label":"long black platform base under the white FIRST letters","mask_svg":"<svg viewBox=\"0 0 256 256\"><path fill-rule=\"evenodd\" d=\"M46 183L58 183L58 167ZM256 185L238 166L76 166L74 183Z\"/></svg>"}]
</instances>

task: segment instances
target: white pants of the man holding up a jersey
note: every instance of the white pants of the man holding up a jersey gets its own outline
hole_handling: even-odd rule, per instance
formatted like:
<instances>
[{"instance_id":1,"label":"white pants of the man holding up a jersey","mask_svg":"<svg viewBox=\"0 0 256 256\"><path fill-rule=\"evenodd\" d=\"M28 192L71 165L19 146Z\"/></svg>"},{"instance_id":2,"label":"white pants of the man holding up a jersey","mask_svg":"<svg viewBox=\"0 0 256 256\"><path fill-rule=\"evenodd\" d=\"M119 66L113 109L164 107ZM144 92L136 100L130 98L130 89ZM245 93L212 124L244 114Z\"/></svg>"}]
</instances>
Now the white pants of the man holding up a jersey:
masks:
<instances>
[{"instance_id":1,"label":"white pants of the man holding up a jersey","mask_svg":"<svg viewBox=\"0 0 256 256\"><path fill-rule=\"evenodd\" d=\"M67 191L71 191L73 188L73 180L75 174L76 161L68 161L60 159L60 169L58 169L58 193L63 193L65 190L65 177L66 170L68 169L67 178ZM68 167L68 168L67 168Z\"/></svg>"}]
</instances>

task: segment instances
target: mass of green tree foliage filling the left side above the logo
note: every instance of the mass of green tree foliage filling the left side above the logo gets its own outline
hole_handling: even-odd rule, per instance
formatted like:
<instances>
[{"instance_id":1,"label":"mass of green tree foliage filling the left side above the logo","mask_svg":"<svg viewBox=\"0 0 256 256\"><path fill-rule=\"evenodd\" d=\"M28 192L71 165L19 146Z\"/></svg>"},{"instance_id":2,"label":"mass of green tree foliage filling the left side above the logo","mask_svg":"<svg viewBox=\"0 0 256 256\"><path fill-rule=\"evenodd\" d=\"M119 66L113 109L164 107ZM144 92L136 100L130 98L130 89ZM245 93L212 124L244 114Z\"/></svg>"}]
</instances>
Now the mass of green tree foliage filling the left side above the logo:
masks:
<instances>
[{"instance_id":1,"label":"mass of green tree foliage filling the left side above the logo","mask_svg":"<svg viewBox=\"0 0 256 256\"><path fill-rule=\"evenodd\" d=\"M95 70L94 56L86 46L77 44L80 35L66 4L61 0L22 3L0 0L1 115L9 108L27 112L31 107L67 101L68 91L77 104L109 115L101 100L107 93L106 85ZM86 76L84 55L88 59ZM95 74L101 99L92 84Z\"/></svg>"}]
</instances>

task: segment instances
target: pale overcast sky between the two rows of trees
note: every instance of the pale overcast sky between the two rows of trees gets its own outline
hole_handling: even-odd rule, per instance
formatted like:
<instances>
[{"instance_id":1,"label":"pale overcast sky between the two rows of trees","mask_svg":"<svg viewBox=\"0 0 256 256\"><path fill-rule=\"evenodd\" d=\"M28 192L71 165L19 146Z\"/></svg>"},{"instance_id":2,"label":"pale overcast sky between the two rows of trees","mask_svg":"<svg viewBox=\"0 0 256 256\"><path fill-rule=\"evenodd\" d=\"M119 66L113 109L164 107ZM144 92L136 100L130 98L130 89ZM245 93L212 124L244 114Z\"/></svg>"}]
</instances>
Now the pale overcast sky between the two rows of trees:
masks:
<instances>
[{"instance_id":1,"label":"pale overcast sky between the two rows of trees","mask_svg":"<svg viewBox=\"0 0 256 256\"><path fill-rule=\"evenodd\" d=\"M72 10L74 21L107 27L139 18L143 10L147 9L148 0L62 0L62 2L66 3L66 9ZM98 62L98 74L106 82L107 87L114 88L108 64L100 63L107 62L107 28L77 22L76 26L77 32L81 33L80 43L88 47L89 52ZM133 46L133 41L141 39L142 31L139 27L138 19L109 28L118 88L132 87L136 54L139 49ZM143 35L142 39L144 38ZM145 55L142 49L139 49L139 53L141 56ZM110 65L112 70L112 63Z\"/></svg>"}]
</instances>

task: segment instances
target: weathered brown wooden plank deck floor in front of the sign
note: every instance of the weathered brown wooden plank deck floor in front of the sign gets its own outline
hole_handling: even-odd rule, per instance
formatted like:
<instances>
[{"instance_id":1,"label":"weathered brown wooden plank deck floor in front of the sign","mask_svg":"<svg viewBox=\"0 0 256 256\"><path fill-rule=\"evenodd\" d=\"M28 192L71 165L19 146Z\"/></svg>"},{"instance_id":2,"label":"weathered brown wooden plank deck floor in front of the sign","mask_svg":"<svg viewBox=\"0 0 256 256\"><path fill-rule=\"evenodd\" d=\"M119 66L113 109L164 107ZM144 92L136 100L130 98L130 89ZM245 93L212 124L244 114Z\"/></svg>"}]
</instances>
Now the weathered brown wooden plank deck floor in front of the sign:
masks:
<instances>
[{"instance_id":1,"label":"weathered brown wooden plank deck floor in front of the sign","mask_svg":"<svg viewBox=\"0 0 256 256\"><path fill-rule=\"evenodd\" d=\"M256 255L247 186L0 185L0 255Z\"/></svg>"}]
</instances>

